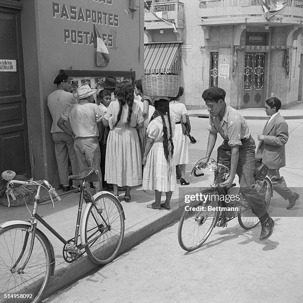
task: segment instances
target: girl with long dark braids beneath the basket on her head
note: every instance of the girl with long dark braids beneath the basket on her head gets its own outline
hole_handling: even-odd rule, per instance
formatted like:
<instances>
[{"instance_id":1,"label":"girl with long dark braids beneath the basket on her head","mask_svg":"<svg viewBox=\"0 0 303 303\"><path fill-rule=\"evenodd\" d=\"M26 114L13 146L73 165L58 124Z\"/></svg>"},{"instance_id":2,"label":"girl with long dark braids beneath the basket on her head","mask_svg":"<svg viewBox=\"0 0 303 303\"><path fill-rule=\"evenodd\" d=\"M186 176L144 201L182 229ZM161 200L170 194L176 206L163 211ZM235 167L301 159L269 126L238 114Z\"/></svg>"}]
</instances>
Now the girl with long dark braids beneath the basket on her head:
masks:
<instances>
[{"instance_id":1,"label":"girl with long dark braids beneath the basket on her head","mask_svg":"<svg viewBox=\"0 0 303 303\"><path fill-rule=\"evenodd\" d=\"M170 209L172 192L176 189L176 167L173 159L173 135L175 124L169 115L169 101L160 99L154 102L157 115L147 129L148 140L142 163L143 189L154 190L155 202L147 207ZM165 192L166 200L161 204L161 194Z\"/></svg>"}]
</instances>

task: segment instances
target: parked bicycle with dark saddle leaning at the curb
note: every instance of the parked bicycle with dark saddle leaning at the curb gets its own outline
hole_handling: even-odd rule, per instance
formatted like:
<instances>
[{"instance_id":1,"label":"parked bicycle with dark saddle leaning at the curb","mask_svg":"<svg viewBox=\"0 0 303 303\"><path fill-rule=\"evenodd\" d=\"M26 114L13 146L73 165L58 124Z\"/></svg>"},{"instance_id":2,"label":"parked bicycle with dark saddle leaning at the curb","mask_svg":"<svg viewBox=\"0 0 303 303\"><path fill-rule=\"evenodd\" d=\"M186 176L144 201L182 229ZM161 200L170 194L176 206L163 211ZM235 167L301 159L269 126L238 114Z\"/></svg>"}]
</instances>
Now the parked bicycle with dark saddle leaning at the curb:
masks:
<instances>
[{"instance_id":1,"label":"parked bicycle with dark saddle leaning at the curb","mask_svg":"<svg viewBox=\"0 0 303 303\"><path fill-rule=\"evenodd\" d=\"M13 197L13 184L37 186L33 210L28 222L8 221L0 224L0 301L39 302L54 274L55 257L50 240L37 228L42 223L63 244L63 258L71 263L85 252L96 264L107 264L117 255L124 236L124 212L111 193L91 194L85 182L99 181L98 171L87 168L71 180L82 180L75 236L65 240L38 214L42 188L61 200L47 180L16 181L7 184L7 195ZM82 214L83 200L86 207ZM64 219L64 218L62 218ZM18 301L19 302L19 301Z\"/></svg>"}]
</instances>

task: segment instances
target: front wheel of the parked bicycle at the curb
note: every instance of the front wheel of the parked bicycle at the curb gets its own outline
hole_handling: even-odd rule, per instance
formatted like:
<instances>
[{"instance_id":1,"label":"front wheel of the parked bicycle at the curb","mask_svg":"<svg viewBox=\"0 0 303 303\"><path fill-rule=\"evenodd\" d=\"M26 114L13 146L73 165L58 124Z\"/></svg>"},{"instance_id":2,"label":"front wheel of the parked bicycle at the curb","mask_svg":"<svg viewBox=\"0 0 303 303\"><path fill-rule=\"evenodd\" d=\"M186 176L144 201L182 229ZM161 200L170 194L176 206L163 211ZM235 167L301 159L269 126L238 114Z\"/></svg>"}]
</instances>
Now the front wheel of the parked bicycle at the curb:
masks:
<instances>
[{"instance_id":1,"label":"front wheel of the parked bicycle at the curb","mask_svg":"<svg viewBox=\"0 0 303 303\"><path fill-rule=\"evenodd\" d=\"M4 299L5 303L40 302L50 280L51 248L45 235L38 229L36 229L33 251L24 268L24 273L11 272L12 266L22 254L26 233L30 234L20 261L25 261L28 256L32 236L32 232L28 231L29 227L26 224L14 224L0 228L0 299ZM22 263L19 262L19 264ZM20 267L17 265L16 269L18 268ZM5 298L5 294L12 295L13 298ZM16 299L17 295L19 295L18 299Z\"/></svg>"}]
</instances>

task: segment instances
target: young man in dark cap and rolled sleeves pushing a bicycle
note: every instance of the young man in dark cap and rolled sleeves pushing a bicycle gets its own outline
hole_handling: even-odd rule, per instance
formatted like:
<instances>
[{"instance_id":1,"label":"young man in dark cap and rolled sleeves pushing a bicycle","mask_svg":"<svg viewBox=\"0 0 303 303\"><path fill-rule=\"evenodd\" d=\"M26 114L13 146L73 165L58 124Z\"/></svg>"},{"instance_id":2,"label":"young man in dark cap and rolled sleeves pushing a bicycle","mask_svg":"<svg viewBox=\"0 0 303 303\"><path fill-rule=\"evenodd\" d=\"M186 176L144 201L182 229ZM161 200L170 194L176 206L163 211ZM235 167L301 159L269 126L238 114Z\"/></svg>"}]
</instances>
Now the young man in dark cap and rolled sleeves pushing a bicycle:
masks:
<instances>
[{"instance_id":1,"label":"young man in dark cap and rolled sleeves pushing a bicycle","mask_svg":"<svg viewBox=\"0 0 303 303\"><path fill-rule=\"evenodd\" d=\"M209 112L207 127L209 135L205 157L210 157L219 133L224 141L217 150L217 162L230 167L229 177L224 182L220 183L223 180L219 176L219 186L231 187L237 173L240 192L261 222L260 241L263 241L271 236L274 221L266 211L264 197L254 187L255 143L246 120L239 111L225 103L225 95L225 91L219 87L211 87L202 94ZM202 160L198 165L206 162Z\"/></svg>"}]
</instances>

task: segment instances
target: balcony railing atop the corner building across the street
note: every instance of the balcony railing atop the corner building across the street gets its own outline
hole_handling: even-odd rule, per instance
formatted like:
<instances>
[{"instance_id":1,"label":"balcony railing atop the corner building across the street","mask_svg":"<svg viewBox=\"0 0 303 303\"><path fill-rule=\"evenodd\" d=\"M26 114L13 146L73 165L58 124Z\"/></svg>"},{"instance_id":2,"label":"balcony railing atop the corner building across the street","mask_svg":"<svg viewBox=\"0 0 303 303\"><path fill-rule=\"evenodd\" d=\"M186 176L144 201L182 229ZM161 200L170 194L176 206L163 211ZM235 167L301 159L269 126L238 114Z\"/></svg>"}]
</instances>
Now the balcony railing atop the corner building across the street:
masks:
<instances>
[{"instance_id":1,"label":"balcony railing atop the corner building across the street","mask_svg":"<svg viewBox=\"0 0 303 303\"><path fill-rule=\"evenodd\" d=\"M254 6L261 5L260 0L200 0L200 8L214 8L214 7L229 7L229 6ZM270 4L270 1L267 1ZM286 6L303 7L303 0L288 0Z\"/></svg>"}]
</instances>

